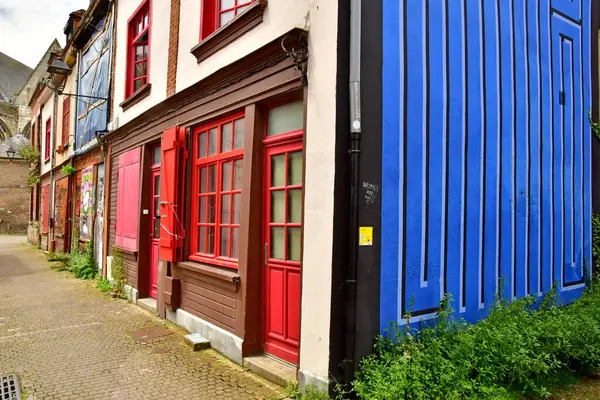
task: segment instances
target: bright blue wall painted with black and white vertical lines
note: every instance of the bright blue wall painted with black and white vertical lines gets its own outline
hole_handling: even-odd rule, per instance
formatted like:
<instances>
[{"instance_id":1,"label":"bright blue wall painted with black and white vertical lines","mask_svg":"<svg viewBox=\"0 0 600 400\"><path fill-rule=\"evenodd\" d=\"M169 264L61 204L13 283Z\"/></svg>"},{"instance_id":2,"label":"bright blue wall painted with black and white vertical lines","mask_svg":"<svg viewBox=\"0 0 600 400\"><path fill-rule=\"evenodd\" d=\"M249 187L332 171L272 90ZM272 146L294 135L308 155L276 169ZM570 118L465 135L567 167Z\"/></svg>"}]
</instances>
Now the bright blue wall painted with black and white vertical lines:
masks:
<instances>
[{"instance_id":1,"label":"bright blue wall painted with black and white vertical lines","mask_svg":"<svg viewBox=\"0 0 600 400\"><path fill-rule=\"evenodd\" d=\"M444 293L468 321L498 290L581 294L590 7L384 0L382 330Z\"/></svg>"}]
</instances>

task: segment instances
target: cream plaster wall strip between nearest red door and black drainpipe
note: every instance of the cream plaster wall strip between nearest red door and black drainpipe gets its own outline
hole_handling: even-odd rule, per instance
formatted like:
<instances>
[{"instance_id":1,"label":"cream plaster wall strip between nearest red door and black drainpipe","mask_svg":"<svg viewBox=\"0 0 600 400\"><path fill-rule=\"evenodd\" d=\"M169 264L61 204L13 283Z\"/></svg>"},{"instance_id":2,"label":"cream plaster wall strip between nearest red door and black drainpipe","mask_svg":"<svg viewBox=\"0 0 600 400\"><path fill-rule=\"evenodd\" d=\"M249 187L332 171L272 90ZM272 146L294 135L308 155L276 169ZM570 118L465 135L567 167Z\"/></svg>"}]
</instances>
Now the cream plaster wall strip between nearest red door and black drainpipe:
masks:
<instances>
[{"instance_id":1,"label":"cream plaster wall strip between nearest red door and black drainpipe","mask_svg":"<svg viewBox=\"0 0 600 400\"><path fill-rule=\"evenodd\" d=\"M336 1L310 0L300 372L329 371L337 76Z\"/></svg>"}]
</instances>

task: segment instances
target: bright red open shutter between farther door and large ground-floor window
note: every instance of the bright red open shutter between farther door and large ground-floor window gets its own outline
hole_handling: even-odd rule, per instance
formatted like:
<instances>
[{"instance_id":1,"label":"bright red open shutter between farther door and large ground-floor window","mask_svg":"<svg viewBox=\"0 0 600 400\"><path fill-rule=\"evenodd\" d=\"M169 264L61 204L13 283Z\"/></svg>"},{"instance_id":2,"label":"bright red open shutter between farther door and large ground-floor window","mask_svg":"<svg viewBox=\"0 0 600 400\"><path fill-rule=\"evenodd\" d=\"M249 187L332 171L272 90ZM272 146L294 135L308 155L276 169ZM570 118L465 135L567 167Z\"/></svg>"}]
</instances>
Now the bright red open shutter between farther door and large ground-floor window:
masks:
<instances>
[{"instance_id":1,"label":"bright red open shutter between farther door and large ground-floor window","mask_svg":"<svg viewBox=\"0 0 600 400\"><path fill-rule=\"evenodd\" d=\"M160 259L177 261L183 244L181 201L185 131L174 127L163 132L160 184Z\"/></svg>"}]
</instances>

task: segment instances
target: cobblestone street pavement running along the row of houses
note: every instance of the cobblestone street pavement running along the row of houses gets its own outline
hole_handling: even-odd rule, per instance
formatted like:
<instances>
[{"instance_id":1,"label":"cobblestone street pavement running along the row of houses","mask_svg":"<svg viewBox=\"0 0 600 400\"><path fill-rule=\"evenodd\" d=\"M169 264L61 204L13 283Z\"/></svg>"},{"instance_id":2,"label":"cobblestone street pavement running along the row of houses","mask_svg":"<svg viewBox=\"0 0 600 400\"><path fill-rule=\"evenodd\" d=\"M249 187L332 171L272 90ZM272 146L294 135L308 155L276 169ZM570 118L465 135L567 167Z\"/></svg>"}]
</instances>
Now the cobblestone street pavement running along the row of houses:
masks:
<instances>
[{"instance_id":1,"label":"cobblestone street pavement running along the row of houses","mask_svg":"<svg viewBox=\"0 0 600 400\"><path fill-rule=\"evenodd\" d=\"M0 374L17 373L27 400L284 397L214 350L193 352L179 328L52 270L24 240L0 236ZM131 336L156 326L170 334Z\"/></svg>"}]
</instances>

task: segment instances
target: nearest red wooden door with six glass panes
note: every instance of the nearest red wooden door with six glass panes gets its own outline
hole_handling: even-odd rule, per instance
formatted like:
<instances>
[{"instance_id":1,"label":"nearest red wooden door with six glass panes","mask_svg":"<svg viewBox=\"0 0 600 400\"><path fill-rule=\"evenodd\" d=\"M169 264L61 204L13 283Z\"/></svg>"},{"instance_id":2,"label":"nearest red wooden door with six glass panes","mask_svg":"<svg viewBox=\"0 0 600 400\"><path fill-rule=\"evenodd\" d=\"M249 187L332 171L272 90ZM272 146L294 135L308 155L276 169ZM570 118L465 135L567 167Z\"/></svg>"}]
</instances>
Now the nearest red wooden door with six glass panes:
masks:
<instances>
[{"instance_id":1,"label":"nearest red wooden door with six glass panes","mask_svg":"<svg viewBox=\"0 0 600 400\"><path fill-rule=\"evenodd\" d=\"M265 351L298 363L302 254L302 142L266 149Z\"/></svg>"}]
</instances>

